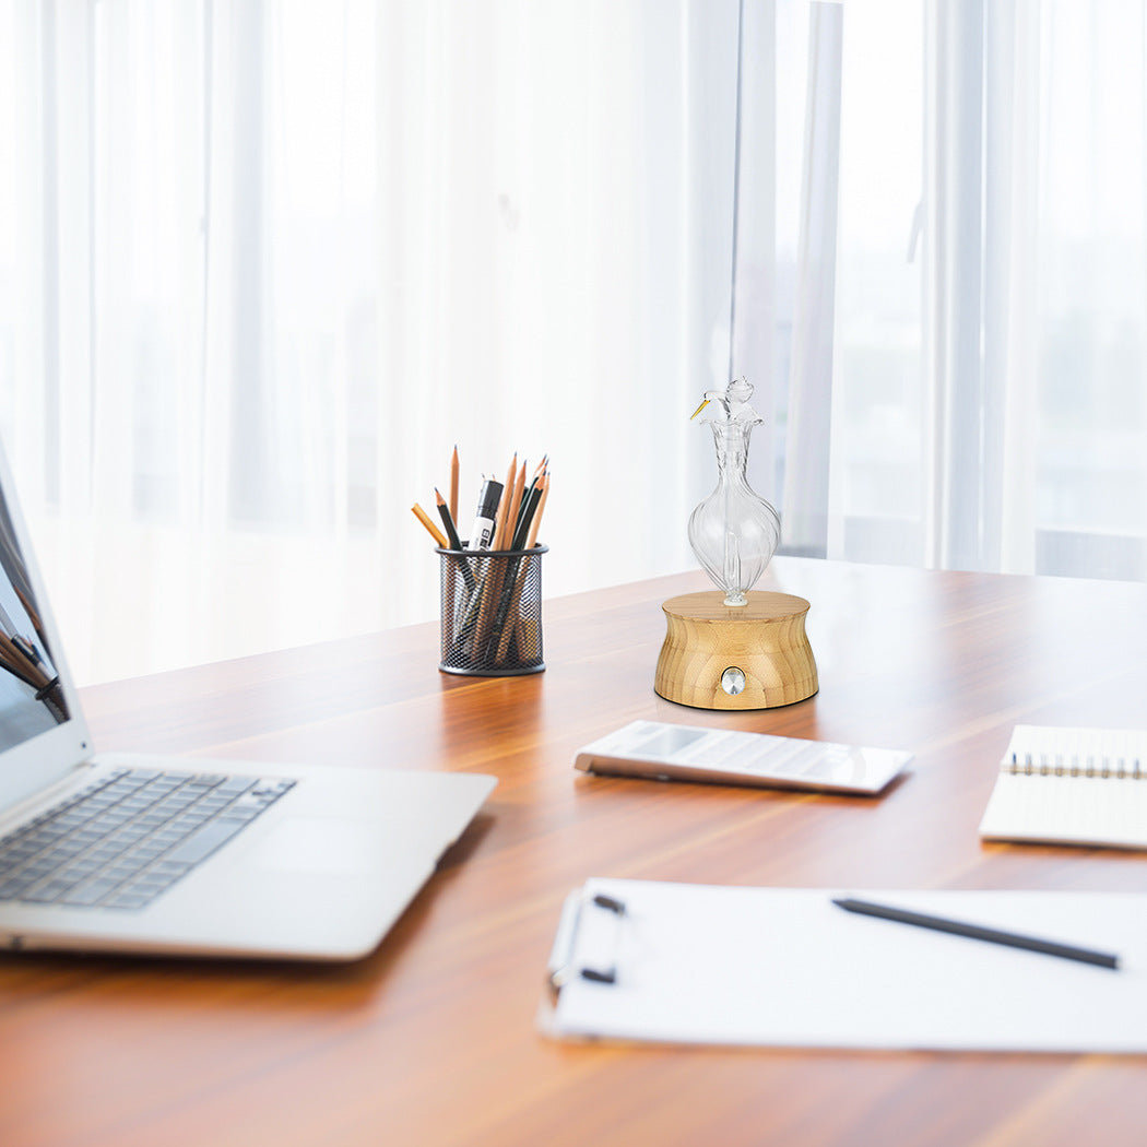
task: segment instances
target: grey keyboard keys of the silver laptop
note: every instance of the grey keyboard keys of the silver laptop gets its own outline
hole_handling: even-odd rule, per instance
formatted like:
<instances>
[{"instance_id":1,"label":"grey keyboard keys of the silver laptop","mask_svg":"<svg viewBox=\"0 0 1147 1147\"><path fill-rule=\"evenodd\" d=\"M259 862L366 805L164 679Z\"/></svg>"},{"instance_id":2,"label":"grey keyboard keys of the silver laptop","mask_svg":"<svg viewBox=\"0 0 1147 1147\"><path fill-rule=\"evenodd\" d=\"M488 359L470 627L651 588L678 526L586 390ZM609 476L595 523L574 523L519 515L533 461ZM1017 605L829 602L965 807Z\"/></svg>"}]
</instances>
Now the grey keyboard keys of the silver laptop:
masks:
<instances>
[{"instance_id":1,"label":"grey keyboard keys of the silver laptop","mask_svg":"<svg viewBox=\"0 0 1147 1147\"><path fill-rule=\"evenodd\" d=\"M0 838L0 900L146 907L294 785L115 770Z\"/></svg>"}]
</instances>

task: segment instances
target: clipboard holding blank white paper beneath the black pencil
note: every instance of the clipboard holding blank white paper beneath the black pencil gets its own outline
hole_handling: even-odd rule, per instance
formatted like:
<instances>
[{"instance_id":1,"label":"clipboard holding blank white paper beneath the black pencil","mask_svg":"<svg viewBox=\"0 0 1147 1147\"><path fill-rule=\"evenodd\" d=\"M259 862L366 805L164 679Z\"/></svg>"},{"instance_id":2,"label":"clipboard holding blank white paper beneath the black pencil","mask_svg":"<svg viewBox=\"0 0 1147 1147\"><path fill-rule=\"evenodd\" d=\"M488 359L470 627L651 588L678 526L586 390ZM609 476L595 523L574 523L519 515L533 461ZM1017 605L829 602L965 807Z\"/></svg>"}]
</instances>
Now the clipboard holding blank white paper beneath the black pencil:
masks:
<instances>
[{"instance_id":1,"label":"clipboard holding blank white paper beneath the black pencil","mask_svg":"<svg viewBox=\"0 0 1147 1147\"><path fill-rule=\"evenodd\" d=\"M539 1027L559 1039L1147 1052L1147 896L865 891L1103 946L1117 970L842 911L852 889L591 880L565 902Z\"/></svg>"}]
</instances>

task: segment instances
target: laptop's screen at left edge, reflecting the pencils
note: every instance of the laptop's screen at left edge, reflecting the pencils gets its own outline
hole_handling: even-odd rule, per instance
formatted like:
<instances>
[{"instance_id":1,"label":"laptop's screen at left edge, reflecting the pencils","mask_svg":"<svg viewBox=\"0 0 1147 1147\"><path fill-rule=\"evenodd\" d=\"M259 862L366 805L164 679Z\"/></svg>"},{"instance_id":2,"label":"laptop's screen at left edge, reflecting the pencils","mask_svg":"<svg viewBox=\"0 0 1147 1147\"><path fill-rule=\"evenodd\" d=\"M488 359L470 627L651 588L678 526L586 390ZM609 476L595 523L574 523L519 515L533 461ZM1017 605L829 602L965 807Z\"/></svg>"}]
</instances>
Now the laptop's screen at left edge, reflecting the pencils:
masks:
<instances>
[{"instance_id":1,"label":"laptop's screen at left edge, reflecting the pencils","mask_svg":"<svg viewBox=\"0 0 1147 1147\"><path fill-rule=\"evenodd\" d=\"M0 752L68 720L7 501L0 497Z\"/></svg>"}]
</instances>

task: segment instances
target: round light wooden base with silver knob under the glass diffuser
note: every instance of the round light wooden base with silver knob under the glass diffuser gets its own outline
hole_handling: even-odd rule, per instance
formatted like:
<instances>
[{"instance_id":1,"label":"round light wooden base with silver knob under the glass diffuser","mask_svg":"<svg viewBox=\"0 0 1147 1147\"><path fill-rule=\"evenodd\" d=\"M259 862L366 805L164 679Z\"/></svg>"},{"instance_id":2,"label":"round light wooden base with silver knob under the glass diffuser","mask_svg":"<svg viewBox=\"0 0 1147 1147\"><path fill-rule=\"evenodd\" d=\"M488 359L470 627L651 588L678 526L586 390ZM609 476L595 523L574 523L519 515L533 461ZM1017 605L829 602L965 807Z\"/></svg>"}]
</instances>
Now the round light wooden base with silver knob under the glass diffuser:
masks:
<instances>
[{"instance_id":1,"label":"round light wooden base with silver knob under the glass diffuser","mask_svg":"<svg viewBox=\"0 0 1147 1147\"><path fill-rule=\"evenodd\" d=\"M811 697L817 663L804 632L809 602L750 591L726 606L720 590L670 598L654 689L695 709L772 709Z\"/></svg>"}]
</instances>

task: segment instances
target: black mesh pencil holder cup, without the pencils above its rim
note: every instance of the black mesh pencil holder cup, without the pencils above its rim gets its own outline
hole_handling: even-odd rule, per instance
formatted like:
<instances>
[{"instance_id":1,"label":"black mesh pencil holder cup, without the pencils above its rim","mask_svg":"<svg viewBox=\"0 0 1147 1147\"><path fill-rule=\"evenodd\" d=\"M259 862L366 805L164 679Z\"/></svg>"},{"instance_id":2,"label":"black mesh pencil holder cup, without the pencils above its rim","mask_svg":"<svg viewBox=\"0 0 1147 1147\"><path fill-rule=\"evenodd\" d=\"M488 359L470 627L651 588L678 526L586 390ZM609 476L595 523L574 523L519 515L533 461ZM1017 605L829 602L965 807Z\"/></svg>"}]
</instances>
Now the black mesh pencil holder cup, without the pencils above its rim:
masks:
<instances>
[{"instance_id":1,"label":"black mesh pencil holder cup, without the pencils above its rim","mask_svg":"<svg viewBox=\"0 0 1147 1147\"><path fill-rule=\"evenodd\" d=\"M532 549L440 549L444 673L540 673L541 555Z\"/></svg>"}]
</instances>

